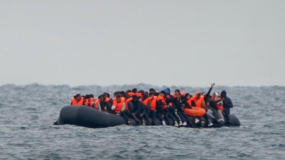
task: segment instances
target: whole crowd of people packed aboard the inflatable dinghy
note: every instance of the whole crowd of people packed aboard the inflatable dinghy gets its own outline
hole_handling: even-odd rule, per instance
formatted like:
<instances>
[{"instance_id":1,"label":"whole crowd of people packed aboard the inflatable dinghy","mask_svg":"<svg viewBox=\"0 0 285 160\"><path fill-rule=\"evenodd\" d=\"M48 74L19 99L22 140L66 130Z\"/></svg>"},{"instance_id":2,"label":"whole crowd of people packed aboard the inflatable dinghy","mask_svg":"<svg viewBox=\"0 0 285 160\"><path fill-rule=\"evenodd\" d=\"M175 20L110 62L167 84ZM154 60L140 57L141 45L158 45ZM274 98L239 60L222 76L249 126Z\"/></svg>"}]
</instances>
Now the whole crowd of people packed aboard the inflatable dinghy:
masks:
<instances>
[{"instance_id":1,"label":"whole crowd of people packed aboard the inflatable dinghy","mask_svg":"<svg viewBox=\"0 0 285 160\"><path fill-rule=\"evenodd\" d=\"M227 97L227 92L221 93L211 91L215 83L207 93L196 92L194 96L176 89L174 94L170 94L170 89L165 88L160 92L150 88L149 92L134 88L126 91L114 93L114 99L110 98L109 93L103 93L98 98L93 94L80 95L76 94L72 98L71 105L84 105L98 109L103 112L117 114L132 125L130 117L137 121L138 125L156 125L156 118L161 121L161 125L174 126L192 126L192 123L204 126L212 126L213 123L230 124L230 108L233 108L232 101ZM204 115L193 116L194 122L185 112L185 108L203 108ZM204 117L204 119L203 119ZM227 119L225 122L224 119ZM206 119L206 122L204 122ZM212 123L213 122L213 123Z\"/></svg>"}]
</instances>

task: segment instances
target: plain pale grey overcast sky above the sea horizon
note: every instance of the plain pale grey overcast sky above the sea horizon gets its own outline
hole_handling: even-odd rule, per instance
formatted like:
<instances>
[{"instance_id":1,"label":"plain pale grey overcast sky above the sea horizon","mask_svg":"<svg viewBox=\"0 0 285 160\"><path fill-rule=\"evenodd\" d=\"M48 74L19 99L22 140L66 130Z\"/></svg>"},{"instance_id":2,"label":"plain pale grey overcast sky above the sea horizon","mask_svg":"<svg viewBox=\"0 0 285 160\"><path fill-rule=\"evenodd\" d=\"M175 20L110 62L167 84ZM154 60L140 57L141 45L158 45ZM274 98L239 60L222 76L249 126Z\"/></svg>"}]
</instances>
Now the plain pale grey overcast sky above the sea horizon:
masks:
<instances>
[{"instance_id":1,"label":"plain pale grey overcast sky above the sea horizon","mask_svg":"<svg viewBox=\"0 0 285 160\"><path fill-rule=\"evenodd\" d=\"M285 85L285 1L0 1L0 85Z\"/></svg>"}]
</instances>

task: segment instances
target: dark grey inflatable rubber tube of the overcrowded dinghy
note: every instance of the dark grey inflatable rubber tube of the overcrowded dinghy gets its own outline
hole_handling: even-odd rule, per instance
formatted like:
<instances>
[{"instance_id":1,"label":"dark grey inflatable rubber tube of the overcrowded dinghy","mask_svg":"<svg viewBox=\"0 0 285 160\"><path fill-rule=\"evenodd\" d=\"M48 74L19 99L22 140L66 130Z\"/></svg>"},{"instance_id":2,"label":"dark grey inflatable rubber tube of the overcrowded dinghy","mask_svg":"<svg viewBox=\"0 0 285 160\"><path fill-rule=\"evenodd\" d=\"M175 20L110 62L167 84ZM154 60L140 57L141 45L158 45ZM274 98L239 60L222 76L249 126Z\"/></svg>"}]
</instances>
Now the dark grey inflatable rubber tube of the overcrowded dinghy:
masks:
<instances>
[{"instance_id":1,"label":"dark grey inflatable rubber tube of the overcrowded dinghy","mask_svg":"<svg viewBox=\"0 0 285 160\"><path fill-rule=\"evenodd\" d=\"M239 119L234 115L230 115L231 123L235 126L240 126ZM190 116L190 120L194 124L194 118ZM137 125L137 122L130 118L133 126ZM204 120L204 122L207 122ZM141 123L141 122L139 122ZM151 123L151 122L150 122ZM173 122L171 122L174 124ZM118 115L112 113L106 113L99 111L97 109L86 107L86 106L65 106L60 110L60 115L58 118L58 125L71 124L77 126L84 126L88 128L105 128L111 126L118 126L122 124L127 124L126 120ZM156 124L161 125L161 121L157 118ZM223 123L214 124L214 127L224 126ZM213 127L212 126L212 127ZM194 125L193 127L199 127L199 125Z\"/></svg>"}]
</instances>

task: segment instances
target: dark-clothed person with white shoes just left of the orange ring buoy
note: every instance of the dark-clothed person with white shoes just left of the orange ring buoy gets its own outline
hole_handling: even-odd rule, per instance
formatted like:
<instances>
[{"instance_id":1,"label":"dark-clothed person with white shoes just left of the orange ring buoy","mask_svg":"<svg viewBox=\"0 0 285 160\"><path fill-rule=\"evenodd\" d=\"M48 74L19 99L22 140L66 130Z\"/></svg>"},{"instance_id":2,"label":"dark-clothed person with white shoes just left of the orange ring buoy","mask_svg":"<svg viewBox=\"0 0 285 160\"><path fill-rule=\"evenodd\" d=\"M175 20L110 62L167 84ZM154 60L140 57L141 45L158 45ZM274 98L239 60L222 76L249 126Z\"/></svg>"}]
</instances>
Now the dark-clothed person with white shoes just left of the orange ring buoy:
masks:
<instances>
[{"instance_id":1,"label":"dark-clothed person with white shoes just left of the orange ring buoy","mask_svg":"<svg viewBox=\"0 0 285 160\"><path fill-rule=\"evenodd\" d=\"M175 102L175 112L177 112L178 116L181 118L183 126L187 126L187 124L188 126L192 126L190 118L183 112L184 108L191 108L191 106L187 103L185 96L178 94Z\"/></svg>"}]
</instances>

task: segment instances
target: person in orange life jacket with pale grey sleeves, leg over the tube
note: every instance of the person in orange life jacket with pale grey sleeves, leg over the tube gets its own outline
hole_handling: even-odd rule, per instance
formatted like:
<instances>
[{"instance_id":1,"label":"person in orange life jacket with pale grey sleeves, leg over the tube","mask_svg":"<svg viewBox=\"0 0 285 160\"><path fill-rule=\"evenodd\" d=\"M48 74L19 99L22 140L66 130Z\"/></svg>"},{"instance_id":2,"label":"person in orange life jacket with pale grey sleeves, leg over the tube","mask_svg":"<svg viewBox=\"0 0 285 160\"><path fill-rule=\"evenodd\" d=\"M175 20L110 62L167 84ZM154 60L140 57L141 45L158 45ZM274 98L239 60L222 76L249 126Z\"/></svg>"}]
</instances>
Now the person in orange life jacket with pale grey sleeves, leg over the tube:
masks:
<instances>
[{"instance_id":1,"label":"person in orange life jacket with pale grey sleeves, leg over the tube","mask_svg":"<svg viewBox=\"0 0 285 160\"><path fill-rule=\"evenodd\" d=\"M116 100L117 100L117 105L116 106L112 106L111 109L114 110L114 112L117 115L120 115L120 116L124 117L124 119L127 121L128 125L131 126L132 125L131 121L130 121L128 115L127 115L130 111L126 108L125 102L122 102L121 96L117 96Z\"/></svg>"}]
</instances>

